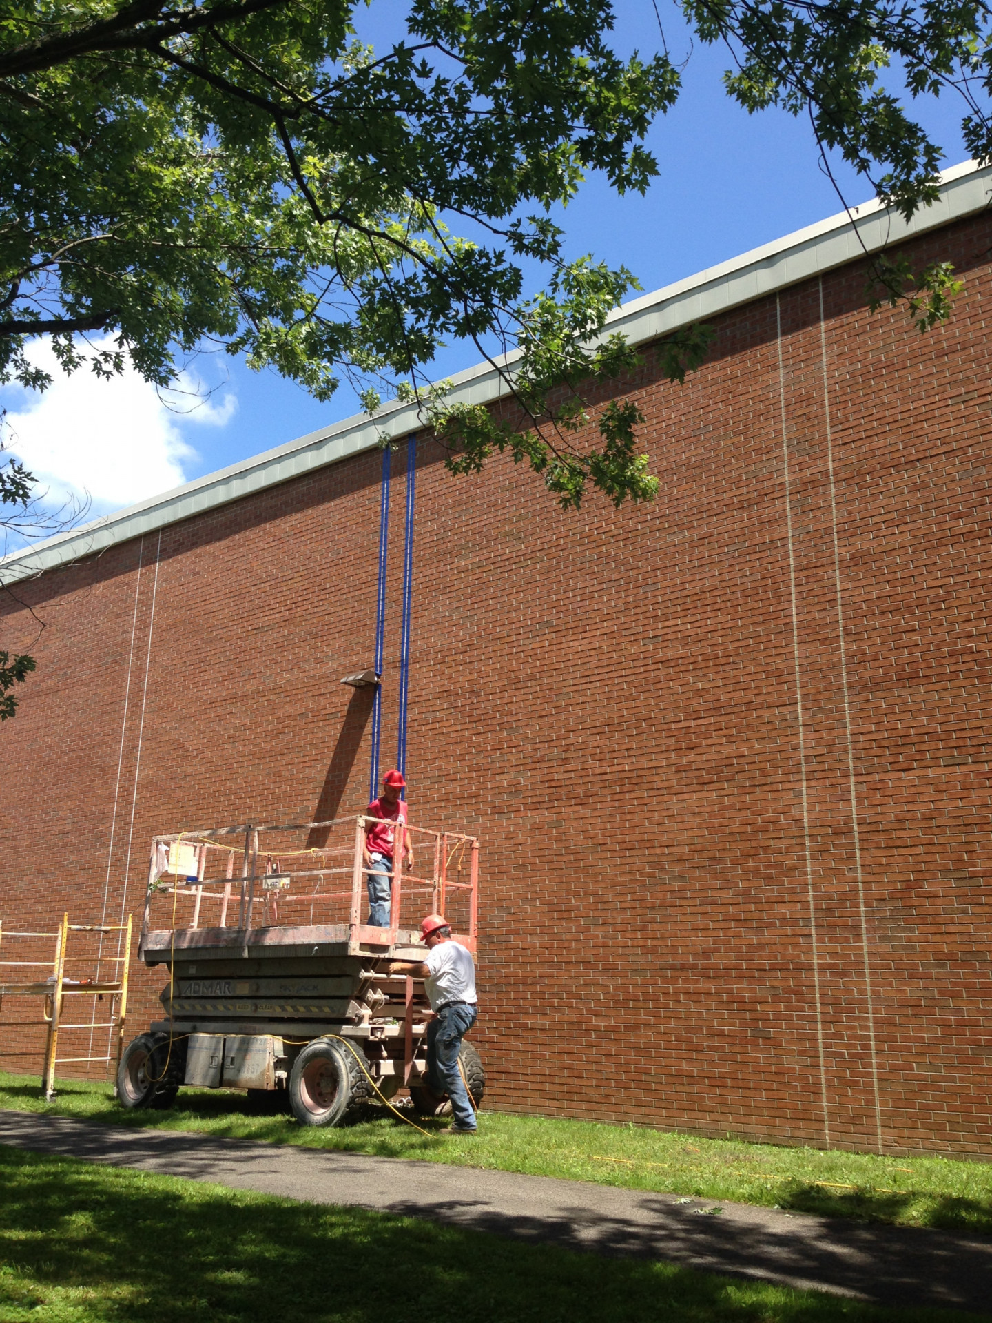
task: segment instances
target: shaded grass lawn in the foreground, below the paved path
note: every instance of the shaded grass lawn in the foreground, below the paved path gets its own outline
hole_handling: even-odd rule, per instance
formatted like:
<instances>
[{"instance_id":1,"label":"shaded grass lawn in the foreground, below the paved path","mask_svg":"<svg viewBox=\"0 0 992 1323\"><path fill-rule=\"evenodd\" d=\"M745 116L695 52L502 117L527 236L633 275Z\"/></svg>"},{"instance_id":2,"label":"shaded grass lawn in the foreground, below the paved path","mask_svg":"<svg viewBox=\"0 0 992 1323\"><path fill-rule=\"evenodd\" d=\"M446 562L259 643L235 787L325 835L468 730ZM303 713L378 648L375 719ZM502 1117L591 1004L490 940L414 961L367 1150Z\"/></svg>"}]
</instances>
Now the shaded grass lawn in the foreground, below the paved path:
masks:
<instances>
[{"instance_id":1,"label":"shaded grass lawn in the foreground, below the paved path","mask_svg":"<svg viewBox=\"0 0 992 1323\"><path fill-rule=\"evenodd\" d=\"M0 1147L4 1323L967 1323Z\"/></svg>"}]
</instances>

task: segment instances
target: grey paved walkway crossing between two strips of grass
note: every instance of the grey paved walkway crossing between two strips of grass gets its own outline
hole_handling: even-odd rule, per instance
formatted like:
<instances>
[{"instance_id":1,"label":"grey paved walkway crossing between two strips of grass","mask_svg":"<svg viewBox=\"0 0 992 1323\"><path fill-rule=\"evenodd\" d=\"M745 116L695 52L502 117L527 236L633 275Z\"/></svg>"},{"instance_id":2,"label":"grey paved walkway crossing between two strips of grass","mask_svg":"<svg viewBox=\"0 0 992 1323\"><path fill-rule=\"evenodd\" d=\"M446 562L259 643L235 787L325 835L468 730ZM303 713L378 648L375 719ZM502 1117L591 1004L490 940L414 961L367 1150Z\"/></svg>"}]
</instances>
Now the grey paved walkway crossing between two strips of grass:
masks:
<instances>
[{"instance_id":1,"label":"grey paved walkway crossing between two strips of grass","mask_svg":"<svg viewBox=\"0 0 992 1323\"><path fill-rule=\"evenodd\" d=\"M452 1143L455 1140L451 1140ZM472 1140L458 1140L471 1144ZM0 1143L880 1304L989 1312L992 1241L505 1171L0 1110ZM722 1212L710 1212L721 1208Z\"/></svg>"}]
</instances>

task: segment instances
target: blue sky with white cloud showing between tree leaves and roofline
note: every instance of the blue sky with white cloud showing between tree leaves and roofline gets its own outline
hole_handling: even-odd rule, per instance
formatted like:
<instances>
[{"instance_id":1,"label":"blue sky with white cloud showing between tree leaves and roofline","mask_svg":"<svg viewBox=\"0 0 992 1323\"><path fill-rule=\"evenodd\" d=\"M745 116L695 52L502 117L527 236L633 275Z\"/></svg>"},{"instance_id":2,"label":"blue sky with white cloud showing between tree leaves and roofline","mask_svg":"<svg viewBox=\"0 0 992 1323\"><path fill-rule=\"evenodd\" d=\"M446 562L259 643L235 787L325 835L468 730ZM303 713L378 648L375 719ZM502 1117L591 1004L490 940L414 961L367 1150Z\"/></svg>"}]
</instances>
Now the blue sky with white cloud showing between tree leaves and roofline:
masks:
<instances>
[{"instance_id":1,"label":"blue sky with white cloud showing between tree leaves and roofline","mask_svg":"<svg viewBox=\"0 0 992 1323\"><path fill-rule=\"evenodd\" d=\"M591 253L610 265L623 263L645 291L841 209L820 168L808 122L778 111L747 115L722 89L726 52L698 44L692 48L669 0L659 0L657 9L673 60L689 56L680 101L657 120L648 139L660 176L645 197L622 198L593 177L559 217L569 235L569 255ZM360 36L380 48L392 44L401 34L395 17L402 12L395 3L377 0L370 11L360 11ZM651 0L620 0L615 49L628 54L638 48L651 54L660 41ZM959 103L929 102L917 110L944 149L943 164L964 160ZM870 187L843 163L835 169L847 201L866 201ZM436 376L470 366L477 357L472 345L454 345L439 359ZM214 394L205 409L186 417L163 410L147 392L142 396L138 381L103 385L70 378L58 382L48 401L8 388L0 392L0 404L11 410L12 448L21 446L24 458L44 474L53 492L86 487L93 493L93 512L103 513L360 407L347 386L320 405L275 373L253 373L225 355L204 355L193 368ZM91 439L77 430L70 445L67 421L69 430L75 430L77 419L85 417L93 421Z\"/></svg>"}]
</instances>

